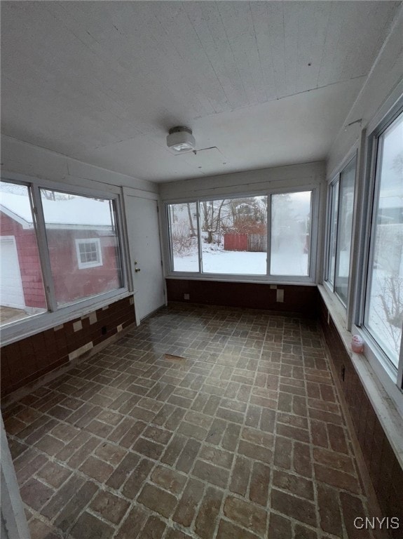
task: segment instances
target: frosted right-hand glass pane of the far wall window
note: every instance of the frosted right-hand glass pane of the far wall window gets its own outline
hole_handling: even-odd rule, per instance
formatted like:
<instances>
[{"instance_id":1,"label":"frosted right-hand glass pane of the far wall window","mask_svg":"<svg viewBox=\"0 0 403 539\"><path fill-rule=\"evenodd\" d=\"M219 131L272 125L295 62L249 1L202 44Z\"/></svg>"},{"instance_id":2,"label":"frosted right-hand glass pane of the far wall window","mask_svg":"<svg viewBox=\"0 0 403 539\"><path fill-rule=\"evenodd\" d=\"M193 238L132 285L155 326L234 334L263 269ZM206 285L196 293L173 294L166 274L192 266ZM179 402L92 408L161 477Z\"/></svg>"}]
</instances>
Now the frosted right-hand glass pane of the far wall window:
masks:
<instances>
[{"instance_id":1,"label":"frosted right-hand glass pane of the far wall window","mask_svg":"<svg viewBox=\"0 0 403 539\"><path fill-rule=\"evenodd\" d=\"M312 191L271 197L271 274L308 275Z\"/></svg>"}]
</instances>

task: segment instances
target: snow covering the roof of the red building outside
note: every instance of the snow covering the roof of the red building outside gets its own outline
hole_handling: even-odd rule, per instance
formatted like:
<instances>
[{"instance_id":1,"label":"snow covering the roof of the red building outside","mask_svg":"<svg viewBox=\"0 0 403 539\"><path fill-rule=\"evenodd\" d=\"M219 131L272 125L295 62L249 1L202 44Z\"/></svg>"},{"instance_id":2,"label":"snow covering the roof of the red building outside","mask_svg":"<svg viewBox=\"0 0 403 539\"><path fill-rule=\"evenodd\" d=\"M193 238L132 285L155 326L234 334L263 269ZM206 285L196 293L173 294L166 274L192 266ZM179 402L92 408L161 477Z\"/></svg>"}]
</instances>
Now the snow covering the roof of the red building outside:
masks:
<instances>
[{"instance_id":1,"label":"snow covering the roof of the red building outside","mask_svg":"<svg viewBox=\"0 0 403 539\"><path fill-rule=\"evenodd\" d=\"M74 197L65 200L42 198L43 213L47 227L111 227L109 201L87 197ZM0 193L0 208L20 224L32 225L32 212L29 198L20 194Z\"/></svg>"}]
</instances>

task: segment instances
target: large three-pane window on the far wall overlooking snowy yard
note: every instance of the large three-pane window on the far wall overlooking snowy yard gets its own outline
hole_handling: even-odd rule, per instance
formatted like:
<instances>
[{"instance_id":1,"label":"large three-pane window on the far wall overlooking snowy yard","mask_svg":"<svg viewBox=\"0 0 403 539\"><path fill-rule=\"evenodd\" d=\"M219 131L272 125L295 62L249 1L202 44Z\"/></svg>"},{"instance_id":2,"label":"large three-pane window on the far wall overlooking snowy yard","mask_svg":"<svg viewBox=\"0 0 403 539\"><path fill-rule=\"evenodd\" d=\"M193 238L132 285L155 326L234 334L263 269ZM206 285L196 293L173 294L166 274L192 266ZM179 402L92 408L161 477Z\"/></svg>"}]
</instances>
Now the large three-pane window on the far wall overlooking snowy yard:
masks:
<instances>
[{"instance_id":1,"label":"large three-pane window on the far wall overlooking snowy yard","mask_svg":"<svg viewBox=\"0 0 403 539\"><path fill-rule=\"evenodd\" d=\"M168 204L171 270L308 279L312 201L309 190Z\"/></svg>"}]
</instances>

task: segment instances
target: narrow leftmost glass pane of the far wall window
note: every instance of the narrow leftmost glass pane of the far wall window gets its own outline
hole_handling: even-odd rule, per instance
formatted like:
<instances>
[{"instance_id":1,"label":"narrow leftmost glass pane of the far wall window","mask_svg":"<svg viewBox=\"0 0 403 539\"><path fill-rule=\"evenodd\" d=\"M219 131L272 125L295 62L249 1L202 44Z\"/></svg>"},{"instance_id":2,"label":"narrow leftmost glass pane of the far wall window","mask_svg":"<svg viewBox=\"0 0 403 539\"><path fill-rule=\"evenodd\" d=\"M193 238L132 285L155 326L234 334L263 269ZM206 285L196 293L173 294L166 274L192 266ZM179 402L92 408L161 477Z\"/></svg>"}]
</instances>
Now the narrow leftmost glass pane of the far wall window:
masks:
<instances>
[{"instance_id":1,"label":"narrow leftmost glass pane of the far wall window","mask_svg":"<svg viewBox=\"0 0 403 539\"><path fill-rule=\"evenodd\" d=\"M172 270L198 272L198 225L196 202L169 204Z\"/></svg>"}]
</instances>

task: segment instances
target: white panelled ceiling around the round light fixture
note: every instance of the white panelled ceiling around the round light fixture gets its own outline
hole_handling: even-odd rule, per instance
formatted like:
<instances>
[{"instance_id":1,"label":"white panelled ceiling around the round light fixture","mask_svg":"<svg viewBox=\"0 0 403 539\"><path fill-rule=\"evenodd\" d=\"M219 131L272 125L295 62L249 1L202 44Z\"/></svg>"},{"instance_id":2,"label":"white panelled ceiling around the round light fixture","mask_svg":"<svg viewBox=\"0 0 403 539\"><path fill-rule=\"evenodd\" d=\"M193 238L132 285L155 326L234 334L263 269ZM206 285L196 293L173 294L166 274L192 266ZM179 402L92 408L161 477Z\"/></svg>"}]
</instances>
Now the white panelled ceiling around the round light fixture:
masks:
<instances>
[{"instance_id":1,"label":"white panelled ceiling around the round light fixture","mask_svg":"<svg viewBox=\"0 0 403 539\"><path fill-rule=\"evenodd\" d=\"M399 4L2 1L1 130L156 182L325 159Z\"/></svg>"}]
</instances>

